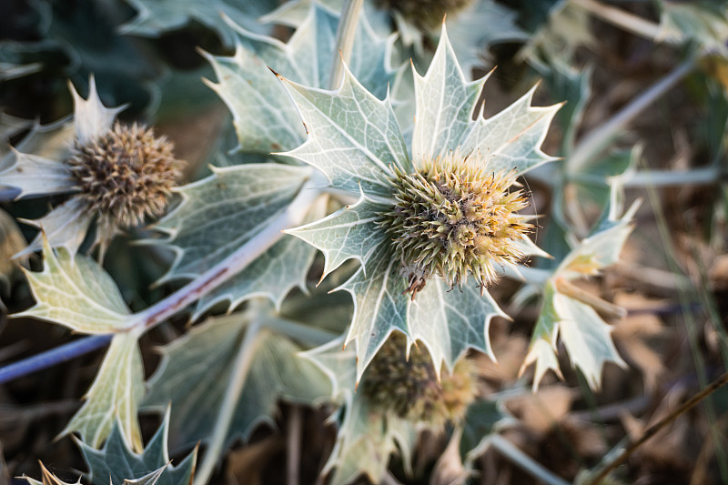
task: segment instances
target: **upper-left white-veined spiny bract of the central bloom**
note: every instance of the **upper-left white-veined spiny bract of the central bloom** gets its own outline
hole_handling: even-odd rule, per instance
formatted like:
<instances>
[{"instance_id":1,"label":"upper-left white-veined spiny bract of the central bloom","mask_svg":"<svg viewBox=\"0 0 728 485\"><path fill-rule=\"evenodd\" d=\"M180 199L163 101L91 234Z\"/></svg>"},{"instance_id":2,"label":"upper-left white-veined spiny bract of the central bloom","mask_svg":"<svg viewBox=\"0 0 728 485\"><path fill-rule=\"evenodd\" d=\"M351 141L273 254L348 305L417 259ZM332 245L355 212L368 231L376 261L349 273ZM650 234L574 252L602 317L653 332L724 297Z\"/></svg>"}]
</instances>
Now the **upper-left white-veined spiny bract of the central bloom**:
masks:
<instances>
[{"instance_id":1,"label":"upper-left white-veined spiny bract of the central bloom","mask_svg":"<svg viewBox=\"0 0 728 485\"><path fill-rule=\"evenodd\" d=\"M389 100L381 101L349 69L336 91L322 91L281 77L308 128L306 142L286 153L319 168L331 187L389 197L390 166L409 173L410 157Z\"/></svg>"}]
</instances>

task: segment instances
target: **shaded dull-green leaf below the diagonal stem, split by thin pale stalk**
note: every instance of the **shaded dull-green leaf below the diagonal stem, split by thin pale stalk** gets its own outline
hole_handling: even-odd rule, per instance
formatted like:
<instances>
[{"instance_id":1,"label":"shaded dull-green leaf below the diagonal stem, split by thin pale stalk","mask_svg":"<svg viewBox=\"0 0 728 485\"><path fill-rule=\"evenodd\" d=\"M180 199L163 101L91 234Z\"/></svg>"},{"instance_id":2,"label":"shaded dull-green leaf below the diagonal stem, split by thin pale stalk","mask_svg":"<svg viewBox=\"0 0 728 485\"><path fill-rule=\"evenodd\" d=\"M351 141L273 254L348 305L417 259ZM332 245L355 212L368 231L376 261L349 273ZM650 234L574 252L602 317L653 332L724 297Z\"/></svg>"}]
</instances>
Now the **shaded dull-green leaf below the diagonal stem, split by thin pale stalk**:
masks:
<instances>
[{"instance_id":1,"label":"shaded dull-green leaf below the diagonal stem, split by thin pale stalk","mask_svg":"<svg viewBox=\"0 0 728 485\"><path fill-rule=\"evenodd\" d=\"M164 348L164 358L150 379L144 406L172 403L175 448L206 441L215 429L217 410L227 391L241 342L248 338L248 314L209 318ZM310 404L325 396L328 385L319 370L297 356L300 347L285 335L266 329L255 334L245 387L227 430L227 444L250 433L261 422L272 423L278 399Z\"/></svg>"}]
</instances>

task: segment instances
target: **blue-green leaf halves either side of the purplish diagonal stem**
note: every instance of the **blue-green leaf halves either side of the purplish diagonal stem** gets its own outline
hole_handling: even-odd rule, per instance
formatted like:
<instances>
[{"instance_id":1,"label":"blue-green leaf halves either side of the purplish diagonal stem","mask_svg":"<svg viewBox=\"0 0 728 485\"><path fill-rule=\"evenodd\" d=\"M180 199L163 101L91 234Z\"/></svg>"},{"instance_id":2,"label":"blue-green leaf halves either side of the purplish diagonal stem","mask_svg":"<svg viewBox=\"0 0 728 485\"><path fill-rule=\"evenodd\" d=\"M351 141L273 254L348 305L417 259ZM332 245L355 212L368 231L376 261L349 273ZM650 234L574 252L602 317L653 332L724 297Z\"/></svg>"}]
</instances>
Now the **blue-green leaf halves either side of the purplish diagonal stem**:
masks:
<instances>
[{"instance_id":1,"label":"blue-green leaf halves either side of the purplish diagonal stem","mask_svg":"<svg viewBox=\"0 0 728 485\"><path fill-rule=\"evenodd\" d=\"M155 226L169 237L147 240L177 255L159 282L196 278L227 258L285 211L309 176L307 167L247 164L213 168L212 176L181 187L181 203ZM313 256L314 250L300 241L279 241L201 298L197 314L220 301L235 307L256 295L279 303L290 288L303 285Z\"/></svg>"}]
</instances>

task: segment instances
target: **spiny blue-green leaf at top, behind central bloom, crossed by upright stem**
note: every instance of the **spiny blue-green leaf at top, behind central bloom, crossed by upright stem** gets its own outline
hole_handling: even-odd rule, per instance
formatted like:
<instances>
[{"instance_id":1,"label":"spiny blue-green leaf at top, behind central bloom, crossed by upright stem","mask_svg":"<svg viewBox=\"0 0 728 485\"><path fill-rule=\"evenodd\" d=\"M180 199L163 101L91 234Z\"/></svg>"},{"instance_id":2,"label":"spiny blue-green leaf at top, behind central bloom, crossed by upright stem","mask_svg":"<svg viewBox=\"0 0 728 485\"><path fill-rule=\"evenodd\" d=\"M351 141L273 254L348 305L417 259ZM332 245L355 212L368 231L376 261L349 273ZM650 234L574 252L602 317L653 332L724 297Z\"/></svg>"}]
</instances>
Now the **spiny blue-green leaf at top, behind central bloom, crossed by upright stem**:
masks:
<instances>
[{"instance_id":1,"label":"spiny blue-green leaf at top, behind central bloom, crossed by upright stem","mask_svg":"<svg viewBox=\"0 0 728 485\"><path fill-rule=\"evenodd\" d=\"M274 82L267 66L293 81L328 87L338 23L337 15L313 4L288 44L232 25L237 44L235 56L207 55L218 79L218 84L210 86L232 112L242 150L279 152L303 142L306 132L296 109L285 89ZM351 68L379 97L386 95L394 76L389 69L389 44L371 31L362 16Z\"/></svg>"}]
</instances>

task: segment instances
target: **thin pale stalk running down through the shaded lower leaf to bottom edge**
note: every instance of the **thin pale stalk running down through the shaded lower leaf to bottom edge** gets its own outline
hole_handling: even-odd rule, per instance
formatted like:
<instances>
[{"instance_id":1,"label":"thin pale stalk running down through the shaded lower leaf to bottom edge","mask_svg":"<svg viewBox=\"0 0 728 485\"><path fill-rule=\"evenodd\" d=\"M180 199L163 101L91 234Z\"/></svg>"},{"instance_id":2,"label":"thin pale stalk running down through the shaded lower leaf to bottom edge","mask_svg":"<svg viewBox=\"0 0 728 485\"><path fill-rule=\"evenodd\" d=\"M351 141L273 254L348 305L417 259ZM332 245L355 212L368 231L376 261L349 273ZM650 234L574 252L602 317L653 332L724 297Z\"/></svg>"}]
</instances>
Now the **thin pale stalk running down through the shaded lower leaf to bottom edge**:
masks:
<instances>
[{"instance_id":1,"label":"thin pale stalk running down through the shaded lower leaf to bottom edge","mask_svg":"<svg viewBox=\"0 0 728 485\"><path fill-rule=\"evenodd\" d=\"M225 391L222 404L220 404L220 409L217 412L215 429L213 429L210 440L207 443L205 458L202 460L199 470L195 473L194 485L206 485L209 482L217 466L220 454L225 449L227 432L229 431L235 411L238 409L238 399L240 399L240 393L248 379L250 365L253 362L253 356L255 356L255 348L260 341L258 335L261 326L262 320L255 318L246 329L245 337L240 343L238 355L233 363L232 374L227 383L227 390Z\"/></svg>"}]
</instances>

